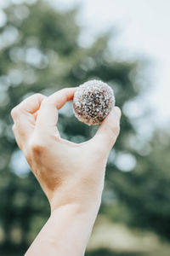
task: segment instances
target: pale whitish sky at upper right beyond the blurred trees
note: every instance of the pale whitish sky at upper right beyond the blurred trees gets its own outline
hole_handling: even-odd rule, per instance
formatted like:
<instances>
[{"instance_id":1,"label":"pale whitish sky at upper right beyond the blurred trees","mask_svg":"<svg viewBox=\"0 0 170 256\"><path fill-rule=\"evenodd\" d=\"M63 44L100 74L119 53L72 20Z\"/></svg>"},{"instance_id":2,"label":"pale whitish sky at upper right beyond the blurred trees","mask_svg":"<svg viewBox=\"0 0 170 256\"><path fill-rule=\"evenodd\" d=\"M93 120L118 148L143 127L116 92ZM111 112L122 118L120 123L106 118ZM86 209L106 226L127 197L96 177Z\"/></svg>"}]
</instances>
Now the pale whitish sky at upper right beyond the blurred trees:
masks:
<instances>
[{"instance_id":1,"label":"pale whitish sky at upper right beyond the blurred trees","mask_svg":"<svg viewBox=\"0 0 170 256\"><path fill-rule=\"evenodd\" d=\"M50 1L52 2L52 0ZM148 68L149 93L145 108L152 109L156 125L170 121L170 1L169 0L54 0L60 9L80 4L77 22L84 28L82 42L90 44L94 34L116 26L114 43L125 59L144 58ZM137 106L129 108L140 108ZM135 113L138 113L136 111Z\"/></svg>"}]
</instances>

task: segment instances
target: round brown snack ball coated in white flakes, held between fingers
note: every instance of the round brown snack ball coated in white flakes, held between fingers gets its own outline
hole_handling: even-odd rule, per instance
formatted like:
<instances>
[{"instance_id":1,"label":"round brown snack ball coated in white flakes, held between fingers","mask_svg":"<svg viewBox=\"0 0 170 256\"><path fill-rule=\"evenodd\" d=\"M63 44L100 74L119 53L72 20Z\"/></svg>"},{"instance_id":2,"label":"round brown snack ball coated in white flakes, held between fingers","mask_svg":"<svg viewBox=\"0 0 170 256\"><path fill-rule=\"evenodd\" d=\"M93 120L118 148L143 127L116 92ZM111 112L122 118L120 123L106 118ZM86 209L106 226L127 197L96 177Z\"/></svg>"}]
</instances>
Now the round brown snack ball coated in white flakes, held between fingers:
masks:
<instances>
[{"instance_id":1,"label":"round brown snack ball coated in white flakes, held between fingers","mask_svg":"<svg viewBox=\"0 0 170 256\"><path fill-rule=\"evenodd\" d=\"M115 105L113 90L100 80L79 85L73 98L73 110L80 121L99 125Z\"/></svg>"}]
</instances>

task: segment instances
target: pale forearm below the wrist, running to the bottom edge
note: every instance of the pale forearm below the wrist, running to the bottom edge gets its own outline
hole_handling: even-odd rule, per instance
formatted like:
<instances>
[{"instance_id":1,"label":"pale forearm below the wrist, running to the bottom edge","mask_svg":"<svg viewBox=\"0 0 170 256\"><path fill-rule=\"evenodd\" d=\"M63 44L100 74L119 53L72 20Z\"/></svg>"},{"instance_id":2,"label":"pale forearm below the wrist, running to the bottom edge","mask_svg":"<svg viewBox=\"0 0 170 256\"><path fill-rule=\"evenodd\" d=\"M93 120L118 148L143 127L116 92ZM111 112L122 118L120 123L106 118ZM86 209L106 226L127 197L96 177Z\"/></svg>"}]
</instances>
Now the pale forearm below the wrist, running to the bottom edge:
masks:
<instances>
[{"instance_id":1,"label":"pale forearm below the wrist, running to the bottom edge","mask_svg":"<svg viewBox=\"0 0 170 256\"><path fill-rule=\"evenodd\" d=\"M88 244L100 201L87 208L77 204L61 206L52 212L26 256L82 256Z\"/></svg>"}]
</instances>

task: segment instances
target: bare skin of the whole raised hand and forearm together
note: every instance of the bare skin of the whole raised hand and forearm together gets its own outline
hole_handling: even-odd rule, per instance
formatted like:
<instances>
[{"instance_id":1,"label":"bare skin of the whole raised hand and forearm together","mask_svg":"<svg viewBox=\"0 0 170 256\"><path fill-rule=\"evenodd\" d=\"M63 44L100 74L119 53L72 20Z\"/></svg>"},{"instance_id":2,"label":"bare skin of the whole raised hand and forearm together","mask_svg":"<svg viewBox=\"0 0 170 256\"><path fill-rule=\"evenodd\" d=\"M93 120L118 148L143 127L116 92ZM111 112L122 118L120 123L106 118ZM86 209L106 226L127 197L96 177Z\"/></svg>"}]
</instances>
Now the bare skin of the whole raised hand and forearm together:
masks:
<instances>
[{"instance_id":1,"label":"bare skin of the whole raised hand and forearm together","mask_svg":"<svg viewBox=\"0 0 170 256\"><path fill-rule=\"evenodd\" d=\"M51 96L35 94L11 111L14 136L31 171L48 197L51 215L26 256L84 255L104 188L105 166L120 131L120 108L114 107L85 143L59 136L58 109L77 88Z\"/></svg>"}]
</instances>

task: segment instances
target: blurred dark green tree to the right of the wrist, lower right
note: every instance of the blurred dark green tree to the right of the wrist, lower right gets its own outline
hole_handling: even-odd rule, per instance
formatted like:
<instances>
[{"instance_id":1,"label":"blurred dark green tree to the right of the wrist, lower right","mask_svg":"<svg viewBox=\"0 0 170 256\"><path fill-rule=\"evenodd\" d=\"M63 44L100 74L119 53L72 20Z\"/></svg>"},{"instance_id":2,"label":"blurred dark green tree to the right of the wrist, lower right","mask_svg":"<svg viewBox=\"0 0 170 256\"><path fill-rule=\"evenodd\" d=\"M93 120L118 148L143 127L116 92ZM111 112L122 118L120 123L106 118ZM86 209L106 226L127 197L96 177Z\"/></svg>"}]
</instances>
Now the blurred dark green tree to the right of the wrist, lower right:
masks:
<instances>
[{"instance_id":1,"label":"blurred dark green tree to the right of the wrist, lower right","mask_svg":"<svg viewBox=\"0 0 170 256\"><path fill-rule=\"evenodd\" d=\"M116 206L105 207L117 221L154 230L170 239L170 133L155 131L150 141L134 153L137 164L133 172L108 172L114 186ZM111 168L111 166L109 167ZM114 184L114 185L113 185ZM121 207L119 206L121 202ZM115 209L114 209L115 207ZM123 212L124 210L124 212ZM114 213L115 212L115 213Z\"/></svg>"}]
</instances>

